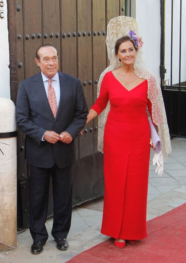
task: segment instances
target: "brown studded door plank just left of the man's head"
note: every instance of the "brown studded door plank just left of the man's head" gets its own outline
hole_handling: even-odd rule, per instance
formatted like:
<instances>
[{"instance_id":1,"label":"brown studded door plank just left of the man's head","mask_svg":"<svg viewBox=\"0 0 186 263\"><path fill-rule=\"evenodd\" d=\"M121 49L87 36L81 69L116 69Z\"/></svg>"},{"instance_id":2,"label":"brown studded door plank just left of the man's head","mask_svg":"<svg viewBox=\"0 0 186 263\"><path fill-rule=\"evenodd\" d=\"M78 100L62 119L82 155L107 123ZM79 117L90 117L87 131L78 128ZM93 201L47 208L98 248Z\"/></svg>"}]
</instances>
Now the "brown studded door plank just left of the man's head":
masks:
<instances>
[{"instance_id":1,"label":"brown studded door plank just left of the man's head","mask_svg":"<svg viewBox=\"0 0 186 263\"><path fill-rule=\"evenodd\" d=\"M42 45L41 1L24 0L23 3L24 78L26 79L40 71L34 59L36 49Z\"/></svg>"}]
</instances>

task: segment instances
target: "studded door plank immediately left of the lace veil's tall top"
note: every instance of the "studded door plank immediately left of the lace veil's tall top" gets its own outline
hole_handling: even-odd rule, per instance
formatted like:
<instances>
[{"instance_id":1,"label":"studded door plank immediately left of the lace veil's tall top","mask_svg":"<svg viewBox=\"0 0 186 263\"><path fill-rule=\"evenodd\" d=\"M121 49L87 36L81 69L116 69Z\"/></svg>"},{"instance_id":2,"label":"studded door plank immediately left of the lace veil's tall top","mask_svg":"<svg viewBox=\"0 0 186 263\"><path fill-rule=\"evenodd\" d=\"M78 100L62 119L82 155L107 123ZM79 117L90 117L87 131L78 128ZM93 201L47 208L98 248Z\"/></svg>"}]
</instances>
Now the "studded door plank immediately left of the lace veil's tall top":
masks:
<instances>
[{"instance_id":1,"label":"studded door plank immediately left of the lace veil's tall top","mask_svg":"<svg viewBox=\"0 0 186 263\"><path fill-rule=\"evenodd\" d=\"M93 0L92 5L92 104L97 98L97 84L101 72L106 67L106 28L105 28L105 1ZM93 120L94 153L97 151L98 118Z\"/></svg>"}]
</instances>

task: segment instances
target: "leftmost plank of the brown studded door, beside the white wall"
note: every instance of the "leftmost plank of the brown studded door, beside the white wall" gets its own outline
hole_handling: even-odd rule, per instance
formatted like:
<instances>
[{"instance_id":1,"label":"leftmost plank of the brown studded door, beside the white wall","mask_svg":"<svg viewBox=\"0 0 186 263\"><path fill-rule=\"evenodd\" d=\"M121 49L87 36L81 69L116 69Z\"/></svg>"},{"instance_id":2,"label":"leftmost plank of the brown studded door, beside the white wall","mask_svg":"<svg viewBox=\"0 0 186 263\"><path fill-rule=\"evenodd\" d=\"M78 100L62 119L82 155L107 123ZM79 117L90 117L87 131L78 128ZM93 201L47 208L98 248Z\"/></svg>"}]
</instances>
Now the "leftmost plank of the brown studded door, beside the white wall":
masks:
<instances>
[{"instance_id":1,"label":"leftmost plank of the brown studded door, beside the white wall","mask_svg":"<svg viewBox=\"0 0 186 263\"><path fill-rule=\"evenodd\" d=\"M19 82L24 79L24 56L23 56L23 6L22 1L7 1L8 13L13 14L8 20L9 23L9 50L10 50L10 85L11 100L16 103ZM26 161L24 158L23 132L18 131L17 136L17 178L26 177Z\"/></svg>"}]
</instances>

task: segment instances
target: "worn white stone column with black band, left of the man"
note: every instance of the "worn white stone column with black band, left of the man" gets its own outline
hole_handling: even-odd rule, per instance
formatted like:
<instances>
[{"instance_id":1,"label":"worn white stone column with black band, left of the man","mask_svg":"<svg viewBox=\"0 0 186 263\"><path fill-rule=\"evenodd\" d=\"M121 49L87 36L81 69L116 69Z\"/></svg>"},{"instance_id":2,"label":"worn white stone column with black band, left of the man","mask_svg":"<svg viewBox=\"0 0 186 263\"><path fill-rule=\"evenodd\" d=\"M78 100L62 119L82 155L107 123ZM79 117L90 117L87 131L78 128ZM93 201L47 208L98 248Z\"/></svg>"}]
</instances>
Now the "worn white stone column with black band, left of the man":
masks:
<instances>
[{"instance_id":1,"label":"worn white stone column with black band, left of the man","mask_svg":"<svg viewBox=\"0 0 186 263\"><path fill-rule=\"evenodd\" d=\"M15 105L0 98L0 133L16 131ZM1 134L0 134L1 137ZM16 137L0 138L0 243L17 244ZM0 244L0 250L11 247Z\"/></svg>"}]
</instances>

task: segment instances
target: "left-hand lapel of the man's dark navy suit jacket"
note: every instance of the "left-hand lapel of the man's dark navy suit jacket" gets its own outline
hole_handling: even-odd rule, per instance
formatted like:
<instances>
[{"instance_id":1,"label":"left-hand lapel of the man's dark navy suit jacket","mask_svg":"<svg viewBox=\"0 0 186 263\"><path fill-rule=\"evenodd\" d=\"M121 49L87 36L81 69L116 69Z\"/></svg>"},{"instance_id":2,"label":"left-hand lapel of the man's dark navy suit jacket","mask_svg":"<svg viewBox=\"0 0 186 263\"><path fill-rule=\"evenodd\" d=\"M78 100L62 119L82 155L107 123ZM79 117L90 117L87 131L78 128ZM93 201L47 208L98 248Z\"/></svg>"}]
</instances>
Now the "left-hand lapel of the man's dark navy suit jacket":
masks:
<instances>
[{"instance_id":1,"label":"left-hand lapel of the man's dark navy suit jacket","mask_svg":"<svg viewBox=\"0 0 186 263\"><path fill-rule=\"evenodd\" d=\"M45 92L45 88L44 88L43 78L42 78L41 72L38 73L36 75L35 79L34 79L34 89L35 89L36 94L39 97L42 105L44 106L44 108L46 109L48 114L54 120L54 116L53 116L53 113L52 113L52 110L50 108L49 101L48 101L48 98L47 98L47 95L46 95L46 92Z\"/></svg>"}]
</instances>

